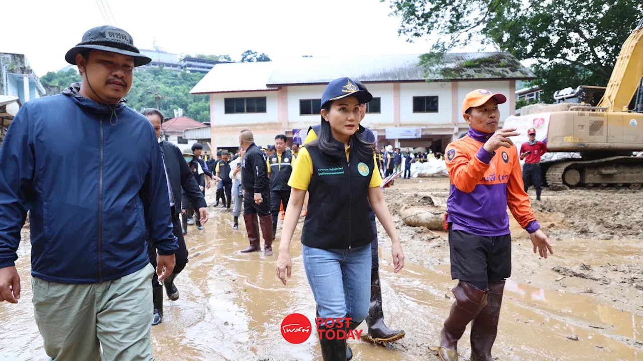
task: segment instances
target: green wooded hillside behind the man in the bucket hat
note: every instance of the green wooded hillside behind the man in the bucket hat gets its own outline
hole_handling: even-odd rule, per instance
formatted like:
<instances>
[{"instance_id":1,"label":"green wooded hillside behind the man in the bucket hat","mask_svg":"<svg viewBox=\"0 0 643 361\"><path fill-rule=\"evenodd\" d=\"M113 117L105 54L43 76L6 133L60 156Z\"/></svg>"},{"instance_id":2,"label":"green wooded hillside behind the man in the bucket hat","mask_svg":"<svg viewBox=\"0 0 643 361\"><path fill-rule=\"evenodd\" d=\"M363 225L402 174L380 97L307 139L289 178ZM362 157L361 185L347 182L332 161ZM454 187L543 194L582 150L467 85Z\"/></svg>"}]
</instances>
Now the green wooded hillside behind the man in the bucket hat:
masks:
<instances>
[{"instance_id":1,"label":"green wooded hillside behind the man in the bucket hat","mask_svg":"<svg viewBox=\"0 0 643 361\"><path fill-rule=\"evenodd\" d=\"M165 97L159 99L159 110L168 118L174 118L175 109L183 109L183 116L197 121L210 121L210 97L192 95L190 90L204 74L177 72L161 68L137 69L134 73L134 84L125 96L127 105L140 111L143 108L156 108L156 92ZM42 84L59 85L60 89L69 87L73 82L80 82L80 75L74 68L68 71L50 71L40 78Z\"/></svg>"}]
</instances>

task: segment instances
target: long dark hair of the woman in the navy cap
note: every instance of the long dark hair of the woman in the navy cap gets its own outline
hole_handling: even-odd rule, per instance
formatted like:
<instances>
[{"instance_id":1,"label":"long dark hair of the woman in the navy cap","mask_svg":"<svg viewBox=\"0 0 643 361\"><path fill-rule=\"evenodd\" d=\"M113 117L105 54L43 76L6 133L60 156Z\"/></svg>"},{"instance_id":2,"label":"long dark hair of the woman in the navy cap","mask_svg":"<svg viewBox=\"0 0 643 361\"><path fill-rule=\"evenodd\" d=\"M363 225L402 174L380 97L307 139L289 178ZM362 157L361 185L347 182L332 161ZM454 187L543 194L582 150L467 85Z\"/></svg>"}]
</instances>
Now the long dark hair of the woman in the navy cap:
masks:
<instances>
[{"instance_id":1,"label":"long dark hair of the woman in the navy cap","mask_svg":"<svg viewBox=\"0 0 643 361\"><path fill-rule=\"evenodd\" d=\"M327 112L330 112L331 105L332 101L329 101L321 109L325 109ZM358 132L355 132L355 134L350 136L350 151L355 152L355 154L362 159L369 159L369 157L372 157L375 152L375 143L366 141L363 137L359 136ZM331 124L327 121L321 121L321 127L319 134L317 134L317 139L312 141L311 145L316 145L320 149L321 154L333 160L341 159L341 157L346 156L344 145L332 137Z\"/></svg>"}]
</instances>

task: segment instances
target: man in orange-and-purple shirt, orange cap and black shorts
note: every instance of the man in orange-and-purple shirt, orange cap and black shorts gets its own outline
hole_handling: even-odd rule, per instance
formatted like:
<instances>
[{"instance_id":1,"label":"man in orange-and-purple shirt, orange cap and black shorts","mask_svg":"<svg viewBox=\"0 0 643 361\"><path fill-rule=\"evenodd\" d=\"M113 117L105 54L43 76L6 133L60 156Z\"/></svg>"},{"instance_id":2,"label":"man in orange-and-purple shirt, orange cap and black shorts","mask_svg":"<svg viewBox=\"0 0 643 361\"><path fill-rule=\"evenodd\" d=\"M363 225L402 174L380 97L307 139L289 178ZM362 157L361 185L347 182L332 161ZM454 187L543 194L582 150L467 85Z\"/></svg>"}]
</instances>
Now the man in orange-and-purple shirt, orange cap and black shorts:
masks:
<instances>
[{"instance_id":1,"label":"man in orange-and-purple shirt, orange cap and black shorts","mask_svg":"<svg viewBox=\"0 0 643 361\"><path fill-rule=\"evenodd\" d=\"M510 137L516 129L498 129L502 94L485 89L469 92L462 116L467 136L446 147L451 179L446 227L449 231L451 277L455 302L440 332L439 357L457 361L457 343L471 324L471 361L493 361L505 279L511 276L511 231L507 206L529 233L540 256L554 254L540 230L523 188L518 150Z\"/></svg>"}]
</instances>

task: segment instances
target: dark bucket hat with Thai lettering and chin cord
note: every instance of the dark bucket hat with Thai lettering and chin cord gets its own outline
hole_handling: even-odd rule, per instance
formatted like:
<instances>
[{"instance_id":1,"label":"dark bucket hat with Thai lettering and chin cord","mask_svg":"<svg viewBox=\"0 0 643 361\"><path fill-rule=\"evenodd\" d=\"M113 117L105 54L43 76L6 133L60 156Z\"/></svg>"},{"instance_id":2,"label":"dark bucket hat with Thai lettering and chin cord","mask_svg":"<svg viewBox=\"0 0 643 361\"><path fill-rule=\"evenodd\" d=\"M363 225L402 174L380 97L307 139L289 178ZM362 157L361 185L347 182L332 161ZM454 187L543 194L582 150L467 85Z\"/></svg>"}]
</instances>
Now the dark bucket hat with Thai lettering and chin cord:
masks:
<instances>
[{"instance_id":1,"label":"dark bucket hat with Thai lettering and chin cord","mask_svg":"<svg viewBox=\"0 0 643 361\"><path fill-rule=\"evenodd\" d=\"M82 41L69 49L65 60L69 64L77 65L76 55L85 49L128 55L134 58L134 66L143 66L152 61L151 58L141 55L141 52L134 46L134 39L127 31L110 25L96 26L96 28L85 31Z\"/></svg>"}]
</instances>

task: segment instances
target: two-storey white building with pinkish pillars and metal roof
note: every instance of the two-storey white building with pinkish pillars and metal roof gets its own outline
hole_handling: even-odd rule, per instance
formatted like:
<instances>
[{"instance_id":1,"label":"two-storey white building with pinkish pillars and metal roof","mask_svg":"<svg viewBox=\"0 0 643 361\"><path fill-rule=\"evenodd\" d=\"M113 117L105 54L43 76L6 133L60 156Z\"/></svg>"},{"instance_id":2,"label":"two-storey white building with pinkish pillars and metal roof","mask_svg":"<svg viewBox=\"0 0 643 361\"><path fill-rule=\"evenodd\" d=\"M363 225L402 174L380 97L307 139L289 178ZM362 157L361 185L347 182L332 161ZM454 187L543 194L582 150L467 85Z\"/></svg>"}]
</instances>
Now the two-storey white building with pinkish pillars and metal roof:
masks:
<instances>
[{"instance_id":1,"label":"two-storey white building with pinkish pillars and metal roof","mask_svg":"<svg viewBox=\"0 0 643 361\"><path fill-rule=\"evenodd\" d=\"M506 118L515 111L516 80L534 78L509 53L449 53L440 67L427 71L419 60L382 55L217 64L191 92L210 94L213 148L237 147L244 128L265 146L274 144L276 134L292 137L293 130L319 123L323 89L349 76L374 96L362 124L377 132L378 146L441 151L468 129L460 110L467 92L484 88L507 95L500 105Z\"/></svg>"}]
</instances>

